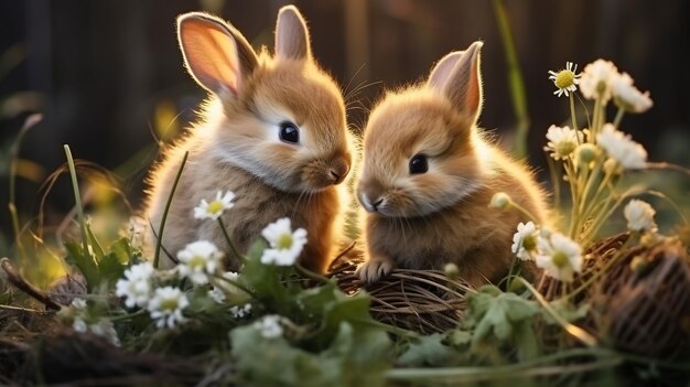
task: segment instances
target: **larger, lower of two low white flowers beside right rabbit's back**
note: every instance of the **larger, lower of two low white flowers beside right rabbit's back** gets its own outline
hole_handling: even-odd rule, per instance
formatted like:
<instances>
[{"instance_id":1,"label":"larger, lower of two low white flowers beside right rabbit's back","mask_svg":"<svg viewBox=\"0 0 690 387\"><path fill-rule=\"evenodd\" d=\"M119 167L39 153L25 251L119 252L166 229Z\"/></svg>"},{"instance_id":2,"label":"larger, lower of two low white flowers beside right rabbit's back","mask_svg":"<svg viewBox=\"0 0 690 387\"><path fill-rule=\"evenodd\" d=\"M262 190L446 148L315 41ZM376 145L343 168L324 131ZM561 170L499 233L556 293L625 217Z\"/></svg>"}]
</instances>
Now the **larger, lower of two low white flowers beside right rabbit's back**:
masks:
<instances>
[{"instance_id":1,"label":"larger, lower of two low white flowers beside right rabbit's back","mask_svg":"<svg viewBox=\"0 0 690 387\"><path fill-rule=\"evenodd\" d=\"M551 233L548 237L540 237L537 244L537 266L548 276L570 282L573 272L582 270L582 248L569 237Z\"/></svg>"}]
</instances>

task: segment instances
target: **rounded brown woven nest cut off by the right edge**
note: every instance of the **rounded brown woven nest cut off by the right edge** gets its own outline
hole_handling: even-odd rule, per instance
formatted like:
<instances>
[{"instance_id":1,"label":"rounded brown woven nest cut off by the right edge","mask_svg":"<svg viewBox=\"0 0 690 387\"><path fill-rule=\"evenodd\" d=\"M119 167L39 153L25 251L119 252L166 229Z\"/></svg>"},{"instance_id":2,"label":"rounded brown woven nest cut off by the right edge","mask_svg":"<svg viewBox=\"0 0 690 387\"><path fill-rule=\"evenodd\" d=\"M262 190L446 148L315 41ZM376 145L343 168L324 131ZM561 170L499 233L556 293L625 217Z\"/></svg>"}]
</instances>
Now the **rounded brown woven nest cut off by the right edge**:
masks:
<instances>
[{"instance_id":1,"label":"rounded brown woven nest cut off by the right edge","mask_svg":"<svg viewBox=\"0 0 690 387\"><path fill-rule=\"evenodd\" d=\"M592 288L595 325L627 352L667 357L690 336L690 260L680 241L625 251Z\"/></svg>"}]
</instances>

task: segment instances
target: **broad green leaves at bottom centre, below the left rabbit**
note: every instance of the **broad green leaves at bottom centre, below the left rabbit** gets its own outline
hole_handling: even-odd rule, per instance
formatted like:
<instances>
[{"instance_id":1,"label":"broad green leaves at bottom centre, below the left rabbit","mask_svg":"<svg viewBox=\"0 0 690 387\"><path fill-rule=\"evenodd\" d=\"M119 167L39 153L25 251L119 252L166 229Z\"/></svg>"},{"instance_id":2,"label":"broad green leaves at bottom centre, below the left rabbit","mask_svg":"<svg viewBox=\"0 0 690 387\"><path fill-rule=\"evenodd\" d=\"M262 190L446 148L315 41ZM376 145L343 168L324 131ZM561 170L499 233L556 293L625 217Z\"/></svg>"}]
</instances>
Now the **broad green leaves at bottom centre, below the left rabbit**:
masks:
<instances>
[{"instance_id":1,"label":"broad green leaves at bottom centre, below the left rabbit","mask_svg":"<svg viewBox=\"0 0 690 387\"><path fill-rule=\"evenodd\" d=\"M263 265L265 241L250 249L240 271L268 312L298 324L285 336L263 337L255 325L230 332L233 355L251 385L377 386L389 366L391 343L369 315L370 299L348 297L333 281L304 288L292 267Z\"/></svg>"}]
</instances>

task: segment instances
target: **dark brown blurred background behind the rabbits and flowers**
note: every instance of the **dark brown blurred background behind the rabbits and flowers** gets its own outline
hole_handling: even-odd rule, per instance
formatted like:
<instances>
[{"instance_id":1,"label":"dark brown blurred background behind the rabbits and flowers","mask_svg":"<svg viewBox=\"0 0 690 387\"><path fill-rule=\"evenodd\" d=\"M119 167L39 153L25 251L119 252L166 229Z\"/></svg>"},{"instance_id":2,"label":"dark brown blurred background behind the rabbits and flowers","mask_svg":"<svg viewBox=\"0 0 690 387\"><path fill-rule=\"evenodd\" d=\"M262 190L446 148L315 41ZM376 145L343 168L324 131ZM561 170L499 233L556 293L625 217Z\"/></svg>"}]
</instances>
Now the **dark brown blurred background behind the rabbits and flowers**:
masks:
<instances>
[{"instance_id":1,"label":"dark brown blurred background behind the rabbits and flowers","mask_svg":"<svg viewBox=\"0 0 690 387\"><path fill-rule=\"evenodd\" d=\"M46 224L74 205L68 178L41 189L75 158L112 171L131 208L140 205L142 180L158 154L158 139L174 138L205 97L182 66L175 17L206 10L230 21L256 46L272 49L274 0L0 0L0 246L11 240L9 175L13 150L21 224L35 222L47 192ZM540 166L551 123L568 119L568 99L552 95L548 71L579 69L599 58L629 73L654 107L626 116L623 129L651 160L690 165L690 2L687 0L302 0L319 62L349 93L355 130L384 87L420 80L441 56L475 40L485 42L484 128L514 149L516 129L529 128L529 161ZM502 19L503 18L503 19ZM509 23L522 74L525 108L516 112L502 20ZM505 26L505 24L503 24ZM358 108L359 107L359 108ZM43 119L31 130L31 114ZM22 132L22 136L20 136ZM21 147L15 144L21 139ZM14 148L13 148L14 144ZM96 174L97 175L97 174ZM679 180L682 194L688 179ZM86 178L84 184L97 184ZM2 243L4 240L4 243ZM0 254L3 252L0 250Z\"/></svg>"}]
</instances>

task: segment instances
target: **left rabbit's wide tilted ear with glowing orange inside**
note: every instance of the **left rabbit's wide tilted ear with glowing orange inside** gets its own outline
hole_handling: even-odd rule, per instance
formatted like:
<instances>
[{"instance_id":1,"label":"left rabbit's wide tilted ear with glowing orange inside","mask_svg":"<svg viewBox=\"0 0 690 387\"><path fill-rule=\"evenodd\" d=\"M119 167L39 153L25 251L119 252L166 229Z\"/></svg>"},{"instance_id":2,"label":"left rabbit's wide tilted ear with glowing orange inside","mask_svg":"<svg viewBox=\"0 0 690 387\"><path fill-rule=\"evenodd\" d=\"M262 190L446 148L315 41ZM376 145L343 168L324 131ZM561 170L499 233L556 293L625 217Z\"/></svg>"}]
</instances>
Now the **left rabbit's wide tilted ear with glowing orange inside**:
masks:
<instances>
[{"instance_id":1,"label":"left rabbit's wide tilted ear with glowing orange inside","mask_svg":"<svg viewBox=\"0 0 690 387\"><path fill-rule=\"evenodd\" d=\"M257 55L239 31L198 12L177 18L177 39L186 67L201 86L224 95L237 95L242 78L254 72Z\"/></svg>"}]
</instances>

